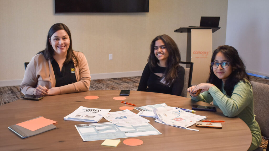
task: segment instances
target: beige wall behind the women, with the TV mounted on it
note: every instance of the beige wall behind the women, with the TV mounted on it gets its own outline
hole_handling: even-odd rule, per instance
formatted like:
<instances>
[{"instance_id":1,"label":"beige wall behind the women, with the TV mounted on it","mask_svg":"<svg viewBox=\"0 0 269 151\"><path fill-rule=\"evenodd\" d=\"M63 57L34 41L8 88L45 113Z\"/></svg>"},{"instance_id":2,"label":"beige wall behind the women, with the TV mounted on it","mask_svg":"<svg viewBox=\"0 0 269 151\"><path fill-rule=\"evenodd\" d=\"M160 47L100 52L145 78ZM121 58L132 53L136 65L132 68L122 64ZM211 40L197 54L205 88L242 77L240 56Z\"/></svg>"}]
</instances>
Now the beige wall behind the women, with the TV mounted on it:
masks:
<instances>
[{"instance_id":1,"label":"beige wall behind the women, with the TV mounted on it","mask_svg":"<svg viewBox=\"0 0 269 151\"><path fill-rule=\"evenodd\" d=\"M228 0L150 0L149 13L55 14L54 0L0 0L0 82L22 80L24 62L45 48L54 23L66 24L73 49L84 52L91 74L141 71L151 40L171 36L186 60L186 33L180 27L199 26L201 16L220 16L213 49L225 44ZM113 60L108 59L109 53Z\"/></svg>"}]
</instances>

